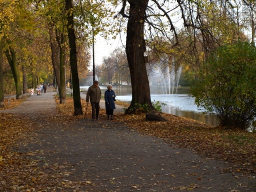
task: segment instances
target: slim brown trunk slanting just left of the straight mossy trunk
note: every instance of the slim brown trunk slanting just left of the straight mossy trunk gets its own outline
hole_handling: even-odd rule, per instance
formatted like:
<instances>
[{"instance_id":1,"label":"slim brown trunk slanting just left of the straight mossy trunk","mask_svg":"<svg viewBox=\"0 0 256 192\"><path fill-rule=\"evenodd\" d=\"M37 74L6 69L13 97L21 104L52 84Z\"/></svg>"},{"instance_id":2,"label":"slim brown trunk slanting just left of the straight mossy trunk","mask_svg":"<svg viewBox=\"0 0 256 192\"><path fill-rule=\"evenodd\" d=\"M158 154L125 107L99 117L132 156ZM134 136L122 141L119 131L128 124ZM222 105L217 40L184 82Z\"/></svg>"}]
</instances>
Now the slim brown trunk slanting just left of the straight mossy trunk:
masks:
<instances>
[{"instance_id":1,"label":"slim brown trunk slanting just left of the straight mossy trunk","mask_svg":"<svg viewBox=\"0 0 256 192\"><path fill-rule=\"evenodd\" d=\"M49 25L49 35L50 35L50 44L52 51L52 66L55 75L55 83L57 84L58 89L60 90L60 47L58 45L56 34L54 33L53 26Z\"/></svg>"}]
</instances>

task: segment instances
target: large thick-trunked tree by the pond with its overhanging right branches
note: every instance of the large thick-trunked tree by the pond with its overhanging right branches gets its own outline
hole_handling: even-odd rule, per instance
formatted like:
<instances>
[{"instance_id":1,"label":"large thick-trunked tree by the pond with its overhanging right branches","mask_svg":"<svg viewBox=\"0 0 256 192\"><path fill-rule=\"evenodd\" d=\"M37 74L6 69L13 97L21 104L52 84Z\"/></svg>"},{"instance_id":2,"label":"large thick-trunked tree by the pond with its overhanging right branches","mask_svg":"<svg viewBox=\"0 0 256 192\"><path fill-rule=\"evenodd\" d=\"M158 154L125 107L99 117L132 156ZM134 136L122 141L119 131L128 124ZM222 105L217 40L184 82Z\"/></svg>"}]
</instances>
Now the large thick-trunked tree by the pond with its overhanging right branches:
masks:
<instances>
[{"instance_id":1,"label":"large thick-trunked tree by the pond with its overhanging right branches","mask_svg":"<svg viewBox=\"0 0 256 192\"><path fill-rule=\"evenodd\" d=\"M211 51L221 45L223 39L230 41L243 34L238 26L241 22L237 22L241 17L235 14L239 12L239 8L233 6L231 1L122 2L119 13L127 18L126 54L132 82L132 101L126 113L135 109L137 103L154 110L144 60L147 42L151 39L164 37L165 41L169 41L171 49L175 47L179 51L182 37L179 31L184 29L189 34L187 37L190 37L187 50L193 53L193 62L201 64ZM234 16L237 18L236 22ZM186 54L186 51L183 53Z\"/></svg>"}]
</instances>

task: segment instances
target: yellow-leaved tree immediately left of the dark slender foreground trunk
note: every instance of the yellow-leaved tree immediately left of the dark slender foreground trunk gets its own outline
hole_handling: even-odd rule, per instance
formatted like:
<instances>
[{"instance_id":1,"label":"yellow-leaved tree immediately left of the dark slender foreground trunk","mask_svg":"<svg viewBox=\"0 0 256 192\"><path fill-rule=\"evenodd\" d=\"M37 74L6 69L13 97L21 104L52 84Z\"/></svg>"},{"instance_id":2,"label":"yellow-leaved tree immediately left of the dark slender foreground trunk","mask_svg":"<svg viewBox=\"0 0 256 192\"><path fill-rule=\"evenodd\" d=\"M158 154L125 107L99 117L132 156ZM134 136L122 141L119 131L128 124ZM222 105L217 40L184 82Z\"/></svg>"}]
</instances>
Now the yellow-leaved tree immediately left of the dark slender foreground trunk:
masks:
<instances>
[{"instance_id":1,"label":"yellow-leaved tree immediately left of the dark slender foreground trunk","mask_svg":"<svg viewBox=\"0 0 256 192\"><path fill-rule=\"evenodd\" d=\"M51 46L51 60L60 103L66 102L67 30L65 1L34 1L35 12L47 31L45 41Z\"/></svg>"}]
</instances>

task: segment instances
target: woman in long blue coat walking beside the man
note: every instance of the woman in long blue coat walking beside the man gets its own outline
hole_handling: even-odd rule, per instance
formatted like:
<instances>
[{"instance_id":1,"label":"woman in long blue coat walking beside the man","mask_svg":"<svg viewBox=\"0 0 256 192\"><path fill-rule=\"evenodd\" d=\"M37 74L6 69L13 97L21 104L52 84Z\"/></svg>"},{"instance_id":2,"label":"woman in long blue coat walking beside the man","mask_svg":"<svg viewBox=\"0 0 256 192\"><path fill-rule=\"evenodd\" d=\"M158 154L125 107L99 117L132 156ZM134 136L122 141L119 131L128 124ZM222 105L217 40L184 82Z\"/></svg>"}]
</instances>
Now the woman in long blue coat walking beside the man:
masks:
<instances>
[{"instance_id":1,"label":"woman in long blue coat walking beside the man","mask_svg":"<svg viewBox=\"0 0 256 192\"><path fill-rule=\"evenodd\" d=\"M116 94L112 90L112 85L108 85L107 88L108 90L105 91L106 113L107 113L108 119L113 119L114 109L116 108L115 102L114 102Z\"/></svg>"}]
</instances>

